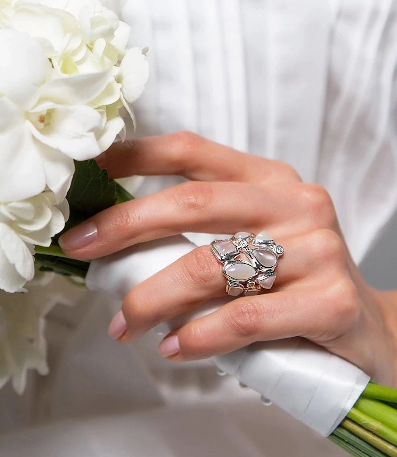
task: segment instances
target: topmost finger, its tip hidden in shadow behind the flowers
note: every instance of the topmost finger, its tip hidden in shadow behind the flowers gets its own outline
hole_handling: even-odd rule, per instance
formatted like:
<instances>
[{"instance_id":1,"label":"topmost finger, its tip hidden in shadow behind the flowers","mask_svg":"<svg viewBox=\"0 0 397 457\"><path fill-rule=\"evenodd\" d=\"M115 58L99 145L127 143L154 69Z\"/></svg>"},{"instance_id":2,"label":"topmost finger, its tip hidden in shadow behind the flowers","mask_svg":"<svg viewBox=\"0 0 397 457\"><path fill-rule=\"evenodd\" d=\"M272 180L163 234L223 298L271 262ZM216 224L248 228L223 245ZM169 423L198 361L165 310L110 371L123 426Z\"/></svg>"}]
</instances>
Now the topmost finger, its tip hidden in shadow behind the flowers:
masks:
<instances>
[{"instance_id":1,"label":"topmost finger, its tip hidden in shadow behind the flowers","mask_svg":"<svg viewBox=\"0 0 397 457\"><path fill-rule=\"evenodd\" d=\"M180 175L194 181L300 181L288 164L179 132L115 143L97 157L111 178Z\"/></svg>"}]
</instances>

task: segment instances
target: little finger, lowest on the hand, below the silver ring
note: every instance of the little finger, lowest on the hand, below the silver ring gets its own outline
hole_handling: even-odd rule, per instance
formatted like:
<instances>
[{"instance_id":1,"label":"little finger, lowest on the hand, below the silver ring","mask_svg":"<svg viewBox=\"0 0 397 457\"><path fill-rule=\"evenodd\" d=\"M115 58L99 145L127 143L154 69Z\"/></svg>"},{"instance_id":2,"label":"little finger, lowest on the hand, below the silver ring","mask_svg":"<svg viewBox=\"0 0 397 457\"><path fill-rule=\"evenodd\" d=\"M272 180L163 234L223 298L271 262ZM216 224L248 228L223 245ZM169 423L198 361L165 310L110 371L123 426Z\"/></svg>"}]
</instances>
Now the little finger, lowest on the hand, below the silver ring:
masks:
<instances>
[{"instance_id":1,"label":"little finger, lowest on the hand, below the silver ring","mask_svg":"<svg viewBox=\"0 0 397 457\"><path fill-rule=\"evenodd\" d=\"M200 317L168 335L159 346L163 357L174 361L198 360L226 354L256 341L329 332L336 337L346 316L330 306L320 291L295 288L254 297L243 297Z\"/></svg>"}]
</instances>

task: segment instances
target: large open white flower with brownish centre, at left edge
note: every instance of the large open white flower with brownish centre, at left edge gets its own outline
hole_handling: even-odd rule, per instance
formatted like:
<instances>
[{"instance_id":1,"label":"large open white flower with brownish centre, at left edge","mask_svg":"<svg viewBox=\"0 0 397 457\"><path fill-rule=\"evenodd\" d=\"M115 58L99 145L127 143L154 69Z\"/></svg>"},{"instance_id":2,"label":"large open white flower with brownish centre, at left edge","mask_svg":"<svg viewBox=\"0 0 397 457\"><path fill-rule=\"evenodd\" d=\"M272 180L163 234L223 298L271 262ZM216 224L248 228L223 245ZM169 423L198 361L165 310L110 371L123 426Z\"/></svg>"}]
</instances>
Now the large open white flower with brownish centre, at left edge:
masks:
<instances>
[{"instance_id":1,"label":"large open white flower with brownish centre, at left edge","mask_svg":"<svg viewBox=\"0 0 397 457\"><path fill-rule=\"evenodd\" d=\"M98 96L108 72L51 79L40 44L23 32L0 29L0 201L17 201L46 185L65 195L73 159L102 149L105 115L85 103ZM113 132L114 136L117 132Z\"/></svg>"}]
</instances>

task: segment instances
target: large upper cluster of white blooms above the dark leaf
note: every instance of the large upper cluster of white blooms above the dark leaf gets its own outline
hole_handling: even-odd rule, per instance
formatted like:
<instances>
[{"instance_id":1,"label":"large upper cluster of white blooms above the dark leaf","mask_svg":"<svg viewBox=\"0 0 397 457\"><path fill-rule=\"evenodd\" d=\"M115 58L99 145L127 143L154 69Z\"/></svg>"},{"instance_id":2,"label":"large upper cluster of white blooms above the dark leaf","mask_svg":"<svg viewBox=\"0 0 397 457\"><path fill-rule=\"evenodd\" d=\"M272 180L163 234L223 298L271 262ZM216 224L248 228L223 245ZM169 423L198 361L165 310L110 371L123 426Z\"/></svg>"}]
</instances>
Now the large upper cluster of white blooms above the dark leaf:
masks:
<instances>
[{"instance_id":1,"label":"large upper cluster of white blooms above the dark leaf","mask_svg":"<svg viewBox=\"0 0 397 457\"><path fill-rule=\"evenodd\" d=\"M126 53L129 26L99 1L0 1L0 201L45 185L61 195L73 159L124 139L119 110L134 120L148 64L140 49Z\"/></svg>"}]
</instances>

